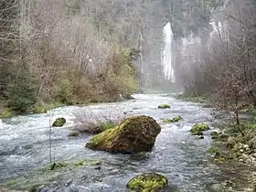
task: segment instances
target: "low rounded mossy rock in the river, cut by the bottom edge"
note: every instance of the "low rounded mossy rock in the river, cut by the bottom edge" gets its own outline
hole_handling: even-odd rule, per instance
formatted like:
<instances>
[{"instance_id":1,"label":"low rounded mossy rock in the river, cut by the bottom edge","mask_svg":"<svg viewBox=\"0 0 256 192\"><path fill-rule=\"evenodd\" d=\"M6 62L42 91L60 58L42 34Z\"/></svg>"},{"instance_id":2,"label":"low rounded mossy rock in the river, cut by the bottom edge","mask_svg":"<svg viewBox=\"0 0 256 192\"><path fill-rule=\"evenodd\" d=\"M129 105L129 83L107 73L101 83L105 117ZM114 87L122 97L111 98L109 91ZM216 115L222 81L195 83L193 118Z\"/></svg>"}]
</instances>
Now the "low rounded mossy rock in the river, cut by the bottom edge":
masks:
<instances>
[{"instance_id":1,"label":"low rounded mossy rock in the river, cut by the bottom edge","mask_svg":"<svg viewBox=\"0 0 256 192\"><path fill-rule=\"evenodd\" d=\"M133 191L151 192L159 191L168 185L165 176L155 173L146 173L133 177L126 185Z\"/></svg>"}]
</instances>

